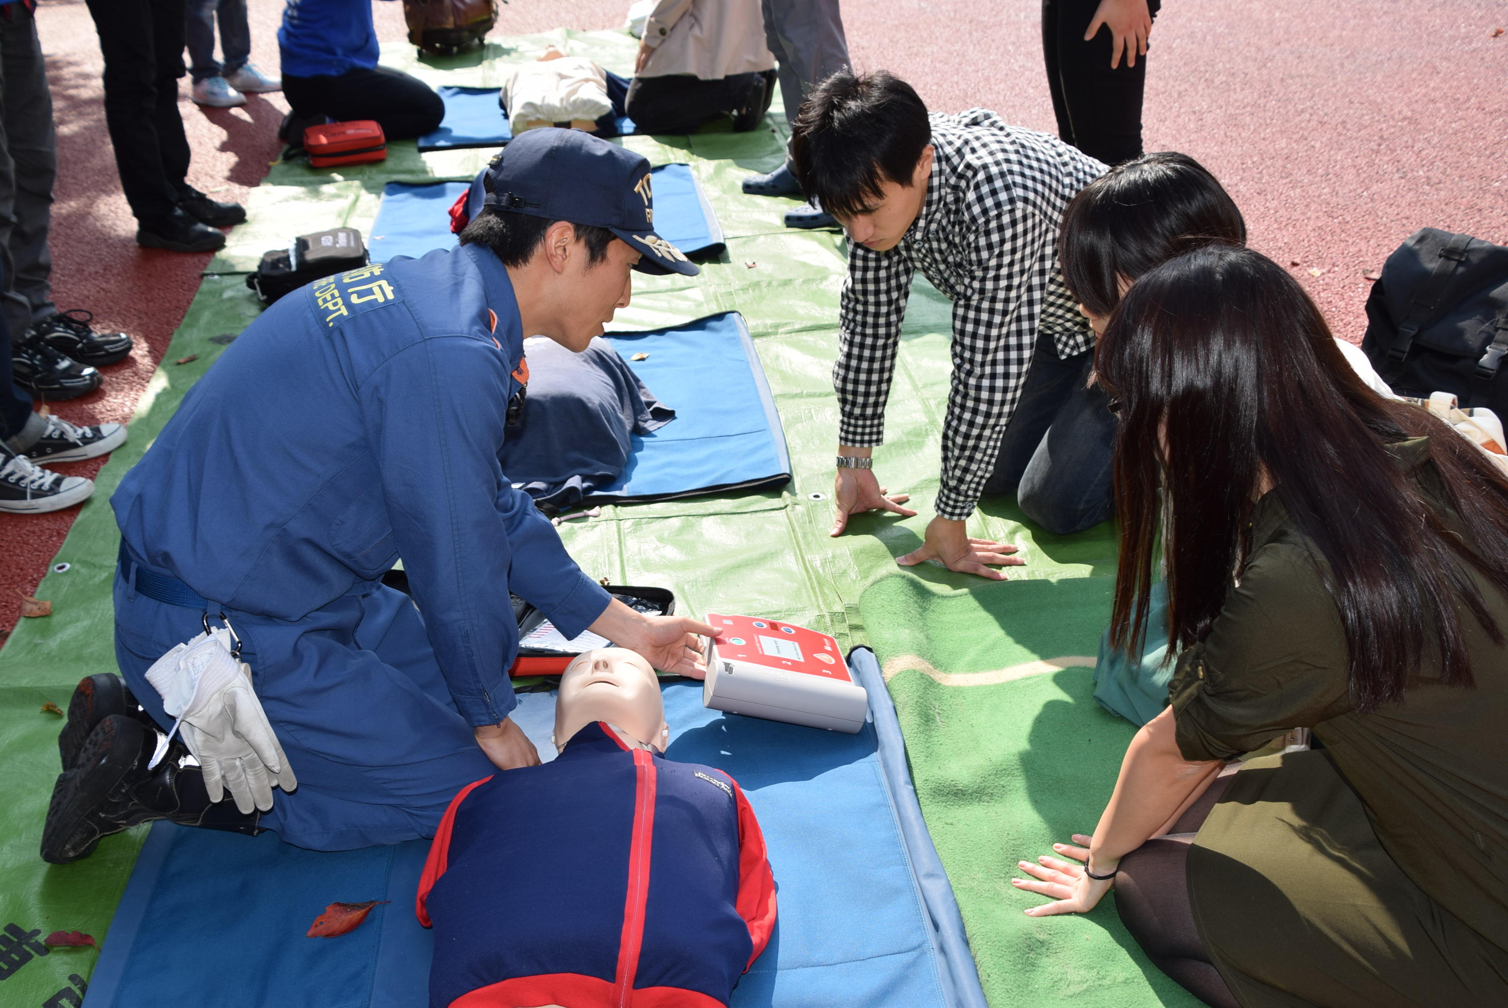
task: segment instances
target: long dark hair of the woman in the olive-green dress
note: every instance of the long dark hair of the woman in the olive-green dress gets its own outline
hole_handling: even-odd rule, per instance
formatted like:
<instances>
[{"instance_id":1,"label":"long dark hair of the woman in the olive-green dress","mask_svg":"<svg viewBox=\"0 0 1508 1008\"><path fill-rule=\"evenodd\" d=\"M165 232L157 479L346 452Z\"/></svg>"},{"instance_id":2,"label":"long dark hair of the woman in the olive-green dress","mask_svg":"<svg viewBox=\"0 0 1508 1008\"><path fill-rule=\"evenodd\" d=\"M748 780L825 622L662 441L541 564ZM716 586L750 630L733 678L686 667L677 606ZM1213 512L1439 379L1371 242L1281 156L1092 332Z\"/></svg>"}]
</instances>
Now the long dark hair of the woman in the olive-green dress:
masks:
<instances>
[{"instance_id":1,"label":"long dark hair of the woman in the olive-green dress","mask_svg":"<svg viewBox=\"0 0 1508 1008\"><path fill-rule=\"evenodd\" d=\"M1359 712L1401 700L1427 661L1473 685L1467 620L1503 646L1478 584L1508 593L1508 478L1430 412L1374 392L1288 270L1224 244L1169 260L1126 291L1095 371L1120 409L1111 646L1136 646L1160 557L1169 650L1209 635L1264 474L1339 610ZM1386 450L1411 438L1428 438L1418 475Z\"/></svg>"}]
</instances>

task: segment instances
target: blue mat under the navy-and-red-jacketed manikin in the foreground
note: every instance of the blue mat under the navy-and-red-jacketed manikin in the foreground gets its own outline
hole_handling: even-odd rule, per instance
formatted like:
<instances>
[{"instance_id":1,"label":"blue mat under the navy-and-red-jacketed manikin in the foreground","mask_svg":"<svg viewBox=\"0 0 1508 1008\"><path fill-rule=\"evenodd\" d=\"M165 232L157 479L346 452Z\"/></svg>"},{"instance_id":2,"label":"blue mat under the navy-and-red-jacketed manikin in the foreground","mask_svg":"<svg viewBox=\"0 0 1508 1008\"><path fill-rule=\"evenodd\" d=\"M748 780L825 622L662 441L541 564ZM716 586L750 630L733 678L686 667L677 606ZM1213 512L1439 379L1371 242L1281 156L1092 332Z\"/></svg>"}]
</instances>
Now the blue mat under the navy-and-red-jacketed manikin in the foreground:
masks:
<instances>
[{"instance_id":1,"label":"blue mat under the navy-and-red-jacketed manikin in the foreground","mask_svg":"<svg viewBox=\"0 0 1508 1008\"><path fill-rule=\"evenodd\" d=\"M733 1005L986 1008L879 665L860 649L849 667L870 697L858 735L718 714L700 684L665 685L667 754L743 786L778 887L775 934ZM552 694L523 694L514 718L549 759ZM84 1005L422 1008L431 939L413 895L427 848L314 853L158 822ZM351 934L305 937L326 904L365 899L392 902Z\"/></svg>"}]
</instances>

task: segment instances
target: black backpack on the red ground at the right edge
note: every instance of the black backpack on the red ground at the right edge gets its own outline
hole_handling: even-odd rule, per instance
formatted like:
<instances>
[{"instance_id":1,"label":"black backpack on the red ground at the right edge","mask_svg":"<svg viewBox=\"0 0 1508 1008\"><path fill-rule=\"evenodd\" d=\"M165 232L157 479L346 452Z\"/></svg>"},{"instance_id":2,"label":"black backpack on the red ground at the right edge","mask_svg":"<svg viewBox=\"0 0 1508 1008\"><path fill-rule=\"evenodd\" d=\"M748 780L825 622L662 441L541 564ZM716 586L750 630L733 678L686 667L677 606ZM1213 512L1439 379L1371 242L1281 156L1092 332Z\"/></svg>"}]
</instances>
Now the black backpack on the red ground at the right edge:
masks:
<instances>
[{"instance_id":1,"label":"black backpack on the red ground at the right edge","mask_svg":"<svg viewBox=\"0 0 1508 1008\"><path fill-rule=\"evenodd\" d=\"M1508 416L1508 249L1437 228L1408 237L1366 299L1362 350L1395 392L1452 392Z\"/></svg>"}]
</instances>

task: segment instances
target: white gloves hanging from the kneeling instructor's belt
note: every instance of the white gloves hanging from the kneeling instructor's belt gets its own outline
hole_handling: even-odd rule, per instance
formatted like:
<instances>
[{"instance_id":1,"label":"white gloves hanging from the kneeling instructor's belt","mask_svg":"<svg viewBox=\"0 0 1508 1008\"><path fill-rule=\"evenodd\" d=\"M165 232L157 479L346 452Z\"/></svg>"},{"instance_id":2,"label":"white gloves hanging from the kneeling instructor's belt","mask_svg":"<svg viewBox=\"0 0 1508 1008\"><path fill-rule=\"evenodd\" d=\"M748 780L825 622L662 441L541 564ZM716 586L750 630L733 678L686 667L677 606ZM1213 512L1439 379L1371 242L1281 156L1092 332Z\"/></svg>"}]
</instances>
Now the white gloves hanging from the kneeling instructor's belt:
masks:
<instances>
[{"instance_id":1,"label":"white gloves hanging from the kneeling instructor's belt","mask_svg":"<svg viewBox=\"0 0 1508 1008\"><path fill-rule=\"evenodd\" d=\"M293 791L299 782L252 690L241 640L225 613L220 622L225 626L211 631L205 616L204 632L158 658L146 681L161 694L169 717L178 718L173 732L182 730L199 761L210 801L220 801L229 789L243 813L253 804L267 812L274 786Z\"/></svg>"}]
</instances>

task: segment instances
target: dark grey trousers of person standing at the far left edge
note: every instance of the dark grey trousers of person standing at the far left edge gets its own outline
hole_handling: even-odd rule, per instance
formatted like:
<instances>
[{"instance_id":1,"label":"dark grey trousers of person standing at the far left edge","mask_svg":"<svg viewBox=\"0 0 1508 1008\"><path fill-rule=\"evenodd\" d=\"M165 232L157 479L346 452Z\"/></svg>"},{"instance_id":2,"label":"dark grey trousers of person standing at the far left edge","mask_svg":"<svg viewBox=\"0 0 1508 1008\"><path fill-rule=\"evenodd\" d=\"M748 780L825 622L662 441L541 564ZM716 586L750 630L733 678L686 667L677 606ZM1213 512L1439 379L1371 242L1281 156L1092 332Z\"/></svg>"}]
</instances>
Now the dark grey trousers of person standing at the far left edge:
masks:
<instances>
[{"instance_id":1,"label":"dark grey trousers of person standing at the far left edge","mask_svg":"<svg viewBox=\"0 0 1508 1008\"><path fill-rule=\"evenodd\" d=\"M11 14L0 12L0 311L20 340L57 311L47 250L57 133L36 21L21 3L0 11Z\"/></svg>"}]
</instances>

